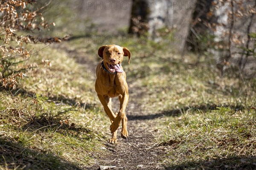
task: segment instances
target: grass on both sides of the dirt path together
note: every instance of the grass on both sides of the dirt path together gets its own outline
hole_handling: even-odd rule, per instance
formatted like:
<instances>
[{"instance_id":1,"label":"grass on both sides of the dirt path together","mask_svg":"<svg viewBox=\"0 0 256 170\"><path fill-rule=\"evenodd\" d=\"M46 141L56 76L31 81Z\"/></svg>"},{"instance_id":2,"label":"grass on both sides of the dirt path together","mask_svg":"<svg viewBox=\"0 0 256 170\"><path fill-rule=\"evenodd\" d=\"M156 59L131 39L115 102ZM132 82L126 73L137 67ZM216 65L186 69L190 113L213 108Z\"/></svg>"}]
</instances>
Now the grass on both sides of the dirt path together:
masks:
<instances>
[{"instance_id":1,"label":"grass on both sides of the dirt path together","mask_svg":"<svg viewBox=\"0 0 256 170\"><path fill-rule=\"evenodd\" d=\"M52 34L64 34L62 27ZM38 67L26 72L16 90L0 89L1 170L84 169L106 153L101 148L109 120L95 109L90 67L104 44L77 34L31 57L26 65ZM165 41L111 43L132 53L131 64L127 58L123 63L136 102L160 115L152 125L160 131L155 139L166 150L166 169L255 169L256 110L250 108L256 106L256 79L221 74L211 55L199 61L195 54L181 57Z\"/></svg>"}]
</instances>

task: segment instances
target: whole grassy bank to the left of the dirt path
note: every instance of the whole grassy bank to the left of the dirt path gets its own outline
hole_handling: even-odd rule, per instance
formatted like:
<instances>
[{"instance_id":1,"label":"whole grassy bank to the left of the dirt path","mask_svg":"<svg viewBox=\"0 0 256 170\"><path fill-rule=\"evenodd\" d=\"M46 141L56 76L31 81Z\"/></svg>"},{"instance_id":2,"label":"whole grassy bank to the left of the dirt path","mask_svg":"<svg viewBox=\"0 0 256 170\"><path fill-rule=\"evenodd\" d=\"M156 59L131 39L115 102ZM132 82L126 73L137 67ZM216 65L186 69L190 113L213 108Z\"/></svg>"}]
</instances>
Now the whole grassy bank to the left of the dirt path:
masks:
<instances>
[{"instance_id":1,"label":"whole grassy bank to the left of the dirt path","mask_svg":"<svg viewBox=\"0 0 256 170\"><path fill-rule=\"evenodd\" d=\"M16 90L0 91L0 169L83 169L93 164L106 140L100 130L105 114L85 109L95 102L93 81L55 48L40 51L26 64L34 63L38 68L29 70Z\"/></svg>"}]
</instances>

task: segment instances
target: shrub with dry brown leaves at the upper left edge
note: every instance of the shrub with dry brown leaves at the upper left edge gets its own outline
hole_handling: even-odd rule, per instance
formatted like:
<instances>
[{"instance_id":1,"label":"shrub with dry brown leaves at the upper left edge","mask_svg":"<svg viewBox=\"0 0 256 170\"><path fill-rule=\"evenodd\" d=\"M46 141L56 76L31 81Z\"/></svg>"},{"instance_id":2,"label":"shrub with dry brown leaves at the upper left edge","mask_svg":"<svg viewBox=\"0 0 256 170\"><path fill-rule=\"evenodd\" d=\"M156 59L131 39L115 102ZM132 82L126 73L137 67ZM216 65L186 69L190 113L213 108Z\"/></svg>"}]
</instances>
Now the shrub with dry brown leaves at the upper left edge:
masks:
<instances>
[{"instance_id":1,"label":"shrub with dry brown leaves at the upper left edge","mask_svg":"<svg viewBox=\"0 0 256 170\"><path fill-rule=\"evenodd\" d=\"M41 3L41 2L40 2ZM50 3L50 2L49 2ZM34 66L25 65L32 50L27 44L61 42L61 38L40 38L18 33L35 33L48 29L55 23L47 23L42 11L49 5L36 7L35 0L1 0L0 3L0 87L16 88L18 78ZM65 37L66 38L66 37Z\"/></svg>"}]
</instances>

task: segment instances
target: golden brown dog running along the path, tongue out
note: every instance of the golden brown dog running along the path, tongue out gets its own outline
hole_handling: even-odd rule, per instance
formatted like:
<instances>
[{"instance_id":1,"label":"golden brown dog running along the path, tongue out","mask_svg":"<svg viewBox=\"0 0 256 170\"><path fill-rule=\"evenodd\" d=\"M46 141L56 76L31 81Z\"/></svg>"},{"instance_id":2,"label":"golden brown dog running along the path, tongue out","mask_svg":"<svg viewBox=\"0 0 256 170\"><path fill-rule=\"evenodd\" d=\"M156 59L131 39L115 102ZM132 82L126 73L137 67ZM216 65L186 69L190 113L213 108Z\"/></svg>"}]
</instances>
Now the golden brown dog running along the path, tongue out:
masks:
<instances>
[{"instance_id":1,"label":"golden brown dog running along the path, tongue out","mask_svg":"<svg viewBox=\"0 0 256 170\"><path fill-rule=\"evenodd\" d=\"M111 121L110 130L112 138L109 143L116 143L116 129L119 127L122 120L122 138L128 137L127 117L125 109L128 104L129 94L128 85L126 82L126 74L121 66L124 56L128 56L130 63L131 52L118 45L103 45L98 50L99 57L103 61L96 68L95 91L103 105L104 111L107 113ZM117 114L111 110L111 98L119 97L120 108Z\"/></svg>"}]
</instances>

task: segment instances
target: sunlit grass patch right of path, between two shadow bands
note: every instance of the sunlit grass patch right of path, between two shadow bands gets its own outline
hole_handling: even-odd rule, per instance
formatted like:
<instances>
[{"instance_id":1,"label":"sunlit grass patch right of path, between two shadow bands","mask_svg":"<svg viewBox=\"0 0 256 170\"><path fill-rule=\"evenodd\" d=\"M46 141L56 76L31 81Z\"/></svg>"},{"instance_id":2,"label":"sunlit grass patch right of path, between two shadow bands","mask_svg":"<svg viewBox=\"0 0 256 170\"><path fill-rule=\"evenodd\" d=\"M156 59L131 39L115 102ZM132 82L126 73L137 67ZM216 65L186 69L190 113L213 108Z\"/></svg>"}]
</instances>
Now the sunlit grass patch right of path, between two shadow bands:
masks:
<instances>
[{"instance_id":1,"label":"sunlit grass patch right of path, between two shadow bands","mask_svg":"<svg viewBox=\"0 0 256 170\"><path fill-rule=\"evenodd\" d=\"M253 156L255 161L255 116L253 110L236 111L217 107L216 110L188 110L177 117L164 117L165 136L162 144L169 146L166 164L172 167L194 162L197 167L195 163L198 161L233 157L249 160ZM233 164L231 167L236 166ZM255 165L250 162L250 166L253 168ZM190 167L193 164L190 163ZM203 167L207 168L206 165Z\"/></svg>"}]
</instances>

